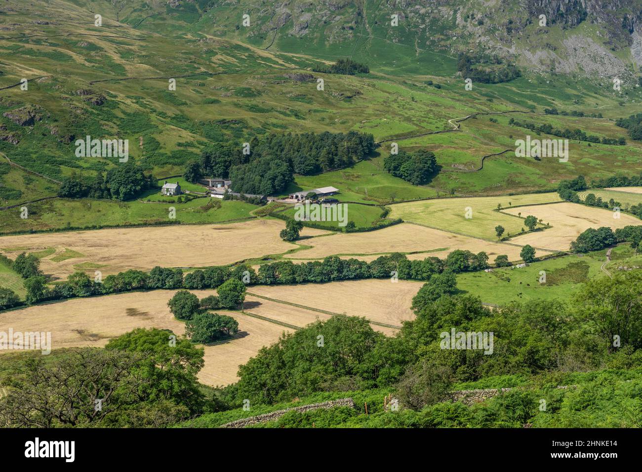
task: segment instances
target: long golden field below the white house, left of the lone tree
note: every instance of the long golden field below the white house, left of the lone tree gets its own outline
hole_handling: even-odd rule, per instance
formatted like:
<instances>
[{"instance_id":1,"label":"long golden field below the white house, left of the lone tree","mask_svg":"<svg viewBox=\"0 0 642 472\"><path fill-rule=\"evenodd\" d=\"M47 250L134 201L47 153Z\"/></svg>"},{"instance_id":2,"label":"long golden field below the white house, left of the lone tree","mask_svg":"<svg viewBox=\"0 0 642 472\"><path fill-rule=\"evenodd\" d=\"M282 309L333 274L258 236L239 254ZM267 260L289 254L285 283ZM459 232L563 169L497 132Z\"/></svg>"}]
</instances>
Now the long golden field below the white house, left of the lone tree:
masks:
<instances>
[{"instance_id":1,"label":"long golden field below the white house, left of the lone tree","mask_svg":"<svg viewBox=\"0 0 642 472\"><path fill-rule=\"evenodd\" d=\"M38 233L0 237L0 251L15 258L22 251L54 248L55 253L40 260L42 271L54 280L66 278L77 269L92 275L98 269L105 276L127 269L148 271L155 266L221 266L284 253L295 248L279 237L284 227L280 220L254 219L230 224ZM307 235L325 233L306 228Z\"/></svg>"}]
</instances>

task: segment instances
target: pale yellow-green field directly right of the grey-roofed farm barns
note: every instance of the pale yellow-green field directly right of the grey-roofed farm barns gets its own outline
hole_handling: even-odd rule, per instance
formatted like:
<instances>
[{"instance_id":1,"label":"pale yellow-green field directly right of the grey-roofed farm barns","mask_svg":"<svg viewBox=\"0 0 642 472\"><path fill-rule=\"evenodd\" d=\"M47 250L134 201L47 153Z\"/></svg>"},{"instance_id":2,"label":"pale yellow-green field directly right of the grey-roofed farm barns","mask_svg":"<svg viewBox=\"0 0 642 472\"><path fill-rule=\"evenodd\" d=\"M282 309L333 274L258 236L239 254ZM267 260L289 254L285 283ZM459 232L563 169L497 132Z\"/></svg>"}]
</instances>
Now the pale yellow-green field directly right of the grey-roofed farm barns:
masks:
<instances>
[{"instance_id":1,"label":"pale yellow-green field directly right of the grey-roofed farm barns","mask_svg":"<svg viewBox=\"0 0 642 472\"><path fill-rule=\"evenodd\" d=\"M523 219L497 211L516 205L534 205L560 201L557 193L526 194L501 197L444 198L424 201L410 201L390 205L390 218L401 218L404 221L425 224L441 230L454 231L473 237L497 239L495 226L501 225L505 235L516 234L525 228ZM471 216L467 218L468 215ZM519 209L525 218L528 212ZM535 214L537 215L537 214Z\"/></svg>"}]
</instances>

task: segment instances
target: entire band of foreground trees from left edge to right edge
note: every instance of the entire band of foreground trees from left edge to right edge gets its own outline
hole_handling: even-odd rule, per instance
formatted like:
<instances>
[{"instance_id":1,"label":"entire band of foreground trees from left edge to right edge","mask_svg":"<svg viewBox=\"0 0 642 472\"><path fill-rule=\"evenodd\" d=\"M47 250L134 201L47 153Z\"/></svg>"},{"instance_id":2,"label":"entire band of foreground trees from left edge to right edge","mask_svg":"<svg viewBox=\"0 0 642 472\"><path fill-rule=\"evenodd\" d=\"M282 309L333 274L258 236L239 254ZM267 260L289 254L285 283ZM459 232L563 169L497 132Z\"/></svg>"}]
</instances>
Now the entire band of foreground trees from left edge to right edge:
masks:
<instances>
[{"instance_id":1,"label":"entire band of foreground trees from left edge to right edge","mask_svg":"<svg viewBox=\"0 0 642 472\"><path fill-rule=\"evenodd\" d=\"M438 296L428 289L417 294L415 319L404 323L395 337L375 332L365 317L315 321L261 349L239 367L238 383L216 389L211 398L196 377L204 365L204 350L169 330L139 328L112 339L104 350L69 350L49 362L29 358L5 377L0 425L162 427L236 408L247 400L268 405L316 392L383 388L394 392L406 410L381 421L404 426L417 426L420 420L421 425L453 426L455 421L455 426L467 426L467 407L442 403L456 383L518 373L559 385L562 373L639 365L639 271L593 280L570 303L532 300L498 310L484 307L477 297L456 294L444 278L431 279L443 289ZM494 333L494 355L482 349L442 348L440 333L451 328ZM581 394L564 402L583 412L586 395ZM508 401L501 408L490 401L474 424L522 427L539 406L538 398L511 392L497 400ZM98 399L101 409L95 408ZM342 417L340 410L333 415Z\"/></svg>"}]
</instances>

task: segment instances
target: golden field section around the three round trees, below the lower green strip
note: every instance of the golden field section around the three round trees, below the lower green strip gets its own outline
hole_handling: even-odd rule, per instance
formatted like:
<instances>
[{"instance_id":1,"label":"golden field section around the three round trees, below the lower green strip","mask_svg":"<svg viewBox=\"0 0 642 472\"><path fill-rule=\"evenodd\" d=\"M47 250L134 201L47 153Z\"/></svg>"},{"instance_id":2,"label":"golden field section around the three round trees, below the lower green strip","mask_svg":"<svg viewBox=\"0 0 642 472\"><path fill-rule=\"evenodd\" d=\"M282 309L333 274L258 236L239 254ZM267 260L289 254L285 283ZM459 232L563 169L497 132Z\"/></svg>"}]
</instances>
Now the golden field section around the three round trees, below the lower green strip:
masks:
<instances>
[{"instance_id":1,"label":"golden field section around the three round trees, below the lower green strip","mask_svg":"<svg viewBox=\"0 0 642 472\"><path fill-rule=\"evenodd\" d=\"M103 347L109 339L135 328L159 328L185 333L185 324L173 317L167 306L175 291L130 292L93 298L77 298L0 313L0 331L51 332L51 348ZM198 298L215 291L193 291ZM239 312L228 314L239 323L239 333L230 341L205 346L205 365L198 373L207 385L236 382L238 366L245 364L263 346L278 341L292 330ZM1 360L1 354L0 354Z\"/></svg>"}]
</instances>

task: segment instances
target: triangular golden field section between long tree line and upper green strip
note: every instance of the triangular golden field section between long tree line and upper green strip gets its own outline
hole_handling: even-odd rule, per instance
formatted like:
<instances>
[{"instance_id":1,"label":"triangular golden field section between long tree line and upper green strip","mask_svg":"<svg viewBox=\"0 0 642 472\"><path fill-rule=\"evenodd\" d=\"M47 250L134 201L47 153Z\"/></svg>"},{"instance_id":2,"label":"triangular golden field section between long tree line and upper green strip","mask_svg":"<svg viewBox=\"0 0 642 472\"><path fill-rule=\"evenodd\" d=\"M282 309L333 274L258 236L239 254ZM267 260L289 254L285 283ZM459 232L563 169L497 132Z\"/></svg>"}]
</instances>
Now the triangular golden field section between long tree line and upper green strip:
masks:
<instances>
[{"instance_id":1,"label":"triangular golden field section between long tree line and upper green strip","mask_svg":"<svg viewBox=\"0 0 642 472\"><path fill-rule=\"evenodd\" d=\"M422 282L390 279L345 280L300 285L259 285L249 287L249 294L259 295L302 307L326 312L363 316L376 323L401 326L415 316L410 309L412 298Z\"/></svg>"}]
</instances>

